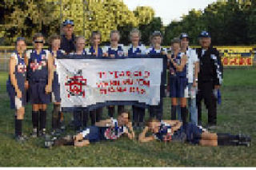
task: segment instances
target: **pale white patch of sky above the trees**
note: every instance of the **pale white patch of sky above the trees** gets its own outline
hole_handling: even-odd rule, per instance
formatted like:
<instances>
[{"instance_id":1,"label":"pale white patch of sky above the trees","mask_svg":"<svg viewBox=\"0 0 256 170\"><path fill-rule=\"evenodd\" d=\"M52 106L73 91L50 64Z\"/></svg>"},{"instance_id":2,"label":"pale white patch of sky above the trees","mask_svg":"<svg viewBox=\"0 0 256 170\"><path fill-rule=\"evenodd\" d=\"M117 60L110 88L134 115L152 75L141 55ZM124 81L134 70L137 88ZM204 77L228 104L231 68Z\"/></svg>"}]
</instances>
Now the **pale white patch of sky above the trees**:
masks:
<instances>
[{"instance_id":1,"label":"pale white patch of sky above the trees","mask_svg":"<svg viewBox=\"0 0 256 170\"><path fill-rule=\"evenodd\" d=\"M181 20L182 14L188 14L192 9L203 10L216 0L123 0L129 10L137 6L150 6L154 9L155 17L162 18L166 26L173 20Z\"/></svg>"}]
</instances>

